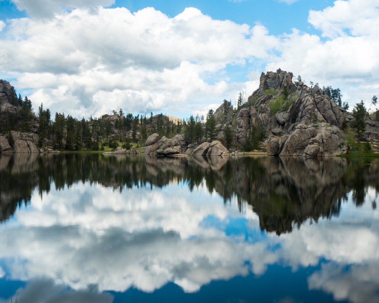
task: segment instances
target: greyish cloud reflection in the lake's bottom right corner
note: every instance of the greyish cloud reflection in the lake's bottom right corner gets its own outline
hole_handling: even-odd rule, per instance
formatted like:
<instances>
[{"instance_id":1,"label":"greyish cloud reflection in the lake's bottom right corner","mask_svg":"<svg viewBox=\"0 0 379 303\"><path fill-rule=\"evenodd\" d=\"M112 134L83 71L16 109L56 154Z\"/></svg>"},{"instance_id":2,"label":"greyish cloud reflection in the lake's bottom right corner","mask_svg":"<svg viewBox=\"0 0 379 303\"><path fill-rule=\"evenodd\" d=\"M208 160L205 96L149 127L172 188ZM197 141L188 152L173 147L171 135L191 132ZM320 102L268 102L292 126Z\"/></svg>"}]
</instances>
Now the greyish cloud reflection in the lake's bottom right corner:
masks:
<instances>
[{"instance_id":1,"label":"greyish cloud reflection in the lake's bottom right corner","mask_svg":"<svg viewBox=\"0 0 379 303\"><path fill-rule=\"evenodd\" d=\"M379 266L377 262L365 266L345 267L331 262L308 278L310 289L322 289L333 294L335 300L354 303L379 302Z\"/></svg>"}]
</instances>

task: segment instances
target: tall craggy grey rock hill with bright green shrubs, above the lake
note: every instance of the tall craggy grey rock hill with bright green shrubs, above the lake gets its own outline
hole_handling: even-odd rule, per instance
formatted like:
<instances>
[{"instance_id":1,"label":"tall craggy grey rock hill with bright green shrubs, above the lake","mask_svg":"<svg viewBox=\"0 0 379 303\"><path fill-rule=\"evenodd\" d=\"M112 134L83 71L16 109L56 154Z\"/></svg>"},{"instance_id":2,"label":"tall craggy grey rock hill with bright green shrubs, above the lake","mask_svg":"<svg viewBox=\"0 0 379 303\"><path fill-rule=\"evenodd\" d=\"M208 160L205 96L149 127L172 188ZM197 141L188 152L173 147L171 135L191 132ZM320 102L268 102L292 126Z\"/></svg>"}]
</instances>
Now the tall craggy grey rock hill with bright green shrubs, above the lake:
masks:
<instances>
[{"instance_id":1,"label":"tall craggy grey rock hill with bright green shrubs, above the lake","mask_svg":"<svg viewBox=\"0 0 379 303\"><path fill-rule=\"evenodd\" d=\"M237 111L230 103L215 111L219 136L233 125L234 144L243 148L252 125L266 132L269 155L330 156L340 149L345 120L339 108L319 87L292 82L293 74L278 69L262 73L258 89Z\"/></svg>"}]
</instances>

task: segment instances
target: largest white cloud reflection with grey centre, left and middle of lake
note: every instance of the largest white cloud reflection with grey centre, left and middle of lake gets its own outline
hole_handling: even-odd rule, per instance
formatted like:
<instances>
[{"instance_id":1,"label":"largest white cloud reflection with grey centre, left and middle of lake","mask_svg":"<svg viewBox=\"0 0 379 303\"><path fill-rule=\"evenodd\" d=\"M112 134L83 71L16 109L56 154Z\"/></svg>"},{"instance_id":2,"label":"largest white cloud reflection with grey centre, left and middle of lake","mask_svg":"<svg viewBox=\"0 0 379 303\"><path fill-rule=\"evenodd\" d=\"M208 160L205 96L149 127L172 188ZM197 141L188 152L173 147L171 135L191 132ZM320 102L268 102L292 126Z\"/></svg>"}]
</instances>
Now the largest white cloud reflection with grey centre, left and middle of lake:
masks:
<instances>
[{"instance_id":1,"label":"largest white cloud reflection with grey centre, left and middle of lake","mask_svg":"<svg viewBox=\"0 0 379 303\"><path fill-rule=\"evenodd\" d=\"M122 193L97 186L88 191L87 185L50 191L42 199L35 192L32 208L16 213L27 228L0 236L7 243L1 258L17 251L17 259L25 260L8 263L12 278L45 276L73 289L93 284L100 291L133 286L147 292L173 281L192 292L212 280L247 275L250 267L262 274L277 260L263 243L246 244L204 227L210 215L222 222L230 216L257 221L250 209L242 215L204 189L188 198L176 192L177 185Z\"/></svg>"}]
</instances>

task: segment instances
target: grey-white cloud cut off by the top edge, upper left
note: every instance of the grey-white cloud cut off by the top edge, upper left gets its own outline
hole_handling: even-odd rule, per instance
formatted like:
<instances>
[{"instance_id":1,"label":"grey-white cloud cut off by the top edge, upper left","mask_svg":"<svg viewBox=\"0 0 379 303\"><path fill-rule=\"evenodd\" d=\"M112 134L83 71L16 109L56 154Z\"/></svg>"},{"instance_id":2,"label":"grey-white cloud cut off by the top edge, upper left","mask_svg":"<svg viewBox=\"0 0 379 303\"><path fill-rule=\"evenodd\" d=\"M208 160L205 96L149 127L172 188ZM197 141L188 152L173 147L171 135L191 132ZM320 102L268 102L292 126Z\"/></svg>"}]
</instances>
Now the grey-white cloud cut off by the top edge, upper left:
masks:
<instances>
[{"instance_id":1,"label":"grey-white cloud cut off by the top edge, upper left","mask_svg":"<svg viewBox=\"0 0 379 303\"><path fill-rule=\"evenodd\" d=\"M54 13L61 13L66 9L94 8L109 6L114 0L11 0L20 11L26 11L32 17L52 17Z\"/></svg>"}]
</instances>

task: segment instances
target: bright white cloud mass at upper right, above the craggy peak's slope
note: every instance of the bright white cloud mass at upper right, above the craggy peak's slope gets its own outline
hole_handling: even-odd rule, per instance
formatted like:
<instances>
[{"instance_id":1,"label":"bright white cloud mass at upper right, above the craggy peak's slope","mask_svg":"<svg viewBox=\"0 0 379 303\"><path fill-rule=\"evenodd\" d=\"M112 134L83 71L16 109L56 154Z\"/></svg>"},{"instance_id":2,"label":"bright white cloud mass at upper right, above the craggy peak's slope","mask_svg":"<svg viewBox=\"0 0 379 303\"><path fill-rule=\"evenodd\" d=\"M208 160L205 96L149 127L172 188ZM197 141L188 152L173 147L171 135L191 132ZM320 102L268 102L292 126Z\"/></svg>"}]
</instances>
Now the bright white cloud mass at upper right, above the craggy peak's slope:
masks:
<instances>
[{"instance_id":1,"label":"bright white cloud mass at upper right, above the craggy peak's slope","mask_svg":"<svg viewBox=\"0 0 379 303\"><path fill-rule=\"evenodd\" d=\"M310 11L308 21L326 39L293 29L281 36L280 54L266 69L280 67L321 86L340 87L350 106L361 99L369 102L379 88L377 1L338 0L322 11Z\"/></svg>"}]
</instances>

